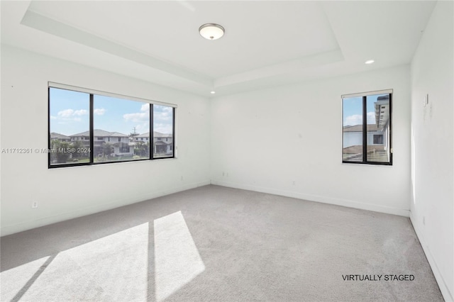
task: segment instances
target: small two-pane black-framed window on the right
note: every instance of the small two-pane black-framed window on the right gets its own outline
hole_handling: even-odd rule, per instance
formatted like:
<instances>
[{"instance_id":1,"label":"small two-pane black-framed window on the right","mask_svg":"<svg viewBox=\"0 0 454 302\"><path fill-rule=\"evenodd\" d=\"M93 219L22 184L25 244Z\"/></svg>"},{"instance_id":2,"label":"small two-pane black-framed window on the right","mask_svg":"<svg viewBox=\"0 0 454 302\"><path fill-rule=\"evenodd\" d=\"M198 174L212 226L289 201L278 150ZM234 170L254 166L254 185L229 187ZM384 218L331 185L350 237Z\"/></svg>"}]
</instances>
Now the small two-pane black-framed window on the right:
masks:
<instances>
[{"instance_id":1,"label":"small two-pane black-framed window on the right","mask_svg":"<svg viewBox=\"0 0 454 302\"><path fill-rule=\"evenodd\" d=\"M342 160L392 164L392 90L342 96Z\"/></svg>"}]
</instances>

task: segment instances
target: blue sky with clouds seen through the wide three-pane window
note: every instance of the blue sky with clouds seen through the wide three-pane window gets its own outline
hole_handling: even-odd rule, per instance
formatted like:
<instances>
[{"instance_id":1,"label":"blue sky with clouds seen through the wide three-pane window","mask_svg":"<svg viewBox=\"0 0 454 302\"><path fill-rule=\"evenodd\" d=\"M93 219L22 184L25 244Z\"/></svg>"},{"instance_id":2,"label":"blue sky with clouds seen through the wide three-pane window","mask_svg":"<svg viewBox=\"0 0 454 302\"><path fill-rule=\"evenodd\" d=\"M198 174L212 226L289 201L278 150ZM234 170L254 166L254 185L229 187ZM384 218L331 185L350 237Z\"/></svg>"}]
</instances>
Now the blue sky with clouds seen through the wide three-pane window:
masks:
<instances>
[{"instance_id":1,"label":"blue sky with clouds seen through the wide three-pane window","mask_svg":"<svg viewBox=\"0 0 454 302\"><path fill-rule=\"evenodd\" d=\"M94 129L129 135L149 132L150 105L94 95ZM172 108L154 106L154 130L172 133ZM89 94L50 88L50 132L72 135L89 130Z\"/></svg>"}]
</instances>

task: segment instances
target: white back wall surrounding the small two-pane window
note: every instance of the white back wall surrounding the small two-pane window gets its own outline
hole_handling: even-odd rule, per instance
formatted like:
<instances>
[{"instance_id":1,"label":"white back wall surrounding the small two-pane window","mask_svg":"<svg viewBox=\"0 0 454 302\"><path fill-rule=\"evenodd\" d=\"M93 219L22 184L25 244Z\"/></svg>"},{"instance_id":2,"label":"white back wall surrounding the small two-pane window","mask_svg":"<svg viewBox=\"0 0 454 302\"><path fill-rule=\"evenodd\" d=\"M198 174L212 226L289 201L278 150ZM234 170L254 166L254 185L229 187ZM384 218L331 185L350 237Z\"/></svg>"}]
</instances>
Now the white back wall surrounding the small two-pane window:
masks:
<instances>
[{"instance_id":1,"label":"white back wall surrounding the small two-pane window","mask_svg":"<svg viewBox=\"0 0 454 302\"><path fill-rule=\"evenodd\" d=\"M394 89L391 166L342 164L341 95ZM409 66L211 103L213 184L409 215Z\"/></svg>"}]
</instances>

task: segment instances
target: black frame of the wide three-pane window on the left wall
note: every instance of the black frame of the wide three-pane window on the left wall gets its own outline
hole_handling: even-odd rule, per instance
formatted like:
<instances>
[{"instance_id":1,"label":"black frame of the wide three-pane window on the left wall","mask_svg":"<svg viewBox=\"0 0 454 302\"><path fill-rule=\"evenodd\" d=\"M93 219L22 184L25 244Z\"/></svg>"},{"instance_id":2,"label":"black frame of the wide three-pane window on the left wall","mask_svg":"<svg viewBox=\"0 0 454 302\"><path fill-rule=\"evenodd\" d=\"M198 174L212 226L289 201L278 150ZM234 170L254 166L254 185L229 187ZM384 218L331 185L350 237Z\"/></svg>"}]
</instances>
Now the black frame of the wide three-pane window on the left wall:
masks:
<instances>
[{"instance_id":1,"label":"black frame of the wide three-pane window on the left wall","mask_svg":"<svg viewBox=\"0 0 454 302\"><path fill-rule=\"evenodd\" d=\"M75 92L82 92L82 93L87 93L89 94L89 146L90 146L90 152L89 152L89 162L71 162L71 163L65 163L65 164L51 164L51 159L50 155L52 150L51 146L51 139L50 139L50 89L63 89L63 90L68 90L68 91L75 91ZM177 106L174 104L165 104L162 102L154 102L146 99L141 99L141 101L144 104L149 104L150 105L150 115L149 115L149 120L150 120L150 127L149 127L149 141L153 142L154 141L154 125L153 125L153 105L160 105L160 106L167 106L172 108L172 155L171 156L163 156L163 157L154 157L154 152L153 152L153 144L150 144L149 152L148 152L148 158L144 159L139 159L139 160L121 160L121 161L106 161L106 162L94 162L94 96L99 95L99 96L113 96L119 99L126 99L128 101L138 101L138 98L134 98L131 96L122 96L119 94L113 94L113 93L108 93L108 94L102 94L101 91L96 91L94 89L83 89L77 90L77 87L74 87L72 89L72 86L68 85L62 85L62 84L57 84L57 85L52 85L48 84L48 169L56 169L56 168L63 168L63 167L83 167L83 166L93 166L97 164L114 164L114 163L122 163L122 162L143 162L143 161L149 161L149 160L167 160L167 159L175 159L177 158L175 156L175 111L177 110ZM129 98L129 99L128 99ZM119 142L121 142L121 138L118 138Z\"/></svg>"}]
</instances>

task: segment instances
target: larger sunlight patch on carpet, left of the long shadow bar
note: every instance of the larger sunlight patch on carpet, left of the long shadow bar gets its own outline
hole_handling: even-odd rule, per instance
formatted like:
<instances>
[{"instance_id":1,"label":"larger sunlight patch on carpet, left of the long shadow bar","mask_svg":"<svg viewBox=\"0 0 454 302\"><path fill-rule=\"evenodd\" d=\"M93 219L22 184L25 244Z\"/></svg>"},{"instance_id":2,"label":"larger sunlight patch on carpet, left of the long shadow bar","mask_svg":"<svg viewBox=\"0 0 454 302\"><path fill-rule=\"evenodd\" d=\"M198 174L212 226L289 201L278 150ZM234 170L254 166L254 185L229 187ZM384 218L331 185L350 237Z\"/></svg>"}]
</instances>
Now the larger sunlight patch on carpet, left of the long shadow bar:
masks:
<instances>
[{"instance_id":1,"label":"larger sunlight patch on carpet, left of the long shadow bar","mask_svg":"<svg viewBox=\"0 0 454 302\"><path fill-rule=\"evenodd\" d=\"M146 301L148 233L143 223L58 253L21 301ZM29 264L40 269L46 258Z\"/></svg>"}]
</instances>

